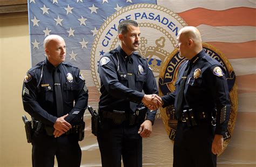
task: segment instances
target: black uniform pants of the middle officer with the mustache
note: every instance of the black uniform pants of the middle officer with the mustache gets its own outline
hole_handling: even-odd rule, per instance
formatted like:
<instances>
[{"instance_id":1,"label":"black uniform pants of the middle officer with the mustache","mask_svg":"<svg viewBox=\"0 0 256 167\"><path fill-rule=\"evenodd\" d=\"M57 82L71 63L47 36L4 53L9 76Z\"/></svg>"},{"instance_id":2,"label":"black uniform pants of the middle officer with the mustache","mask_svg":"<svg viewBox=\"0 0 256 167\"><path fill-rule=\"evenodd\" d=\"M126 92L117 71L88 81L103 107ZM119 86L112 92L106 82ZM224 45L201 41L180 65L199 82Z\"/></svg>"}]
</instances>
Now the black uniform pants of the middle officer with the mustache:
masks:
<instances>
[{"instance_id":1,"label":"black uniform pants of the middle officer with the mustache","mask_svg":"<svg viewBox=\"0 0 256 167\"><path fill-rule=\"evenodd\" d=\"M103 119L97 137L103 167L120 167L121 156L125 167L142 166L139 126L130 126L128 121L118 125L111 119Z\"/></svg>"}]
</instances>

